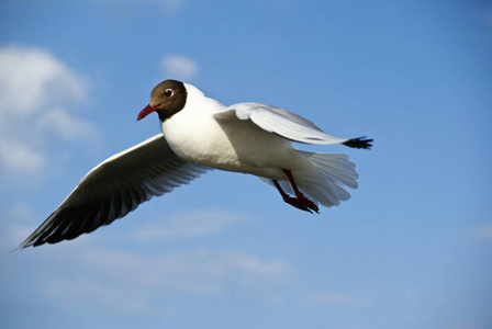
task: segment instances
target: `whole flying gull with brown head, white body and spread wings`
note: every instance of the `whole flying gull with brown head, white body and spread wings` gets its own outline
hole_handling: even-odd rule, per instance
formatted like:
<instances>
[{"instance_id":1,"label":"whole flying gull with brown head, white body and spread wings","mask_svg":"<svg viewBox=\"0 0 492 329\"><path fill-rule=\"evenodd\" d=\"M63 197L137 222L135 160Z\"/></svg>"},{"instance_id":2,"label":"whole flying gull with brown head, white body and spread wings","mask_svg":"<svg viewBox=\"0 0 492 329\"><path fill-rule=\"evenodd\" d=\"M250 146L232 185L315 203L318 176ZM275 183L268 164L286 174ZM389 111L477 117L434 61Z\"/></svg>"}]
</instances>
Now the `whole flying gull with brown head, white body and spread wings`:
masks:
<instances>
[{"instance_id":1,"label":"whole flying gull with brown head, white body and spread wings","mask_svg":"<svg viewBox=\"0 0 492 329\"><path fill-rule=\"evenodd\" d=\"M137 121L156 112L161 134L89 171L58 208L19 248L57 243L111 224L153 196L188 184L210 169L249 173L282 200L318 213L357 189L355 163L344 154L297 149L292 141L369 149L372 139L338 138L292 112L261 103L225 106L177 80L157 84Z\"/></svg>"}]
</instances>

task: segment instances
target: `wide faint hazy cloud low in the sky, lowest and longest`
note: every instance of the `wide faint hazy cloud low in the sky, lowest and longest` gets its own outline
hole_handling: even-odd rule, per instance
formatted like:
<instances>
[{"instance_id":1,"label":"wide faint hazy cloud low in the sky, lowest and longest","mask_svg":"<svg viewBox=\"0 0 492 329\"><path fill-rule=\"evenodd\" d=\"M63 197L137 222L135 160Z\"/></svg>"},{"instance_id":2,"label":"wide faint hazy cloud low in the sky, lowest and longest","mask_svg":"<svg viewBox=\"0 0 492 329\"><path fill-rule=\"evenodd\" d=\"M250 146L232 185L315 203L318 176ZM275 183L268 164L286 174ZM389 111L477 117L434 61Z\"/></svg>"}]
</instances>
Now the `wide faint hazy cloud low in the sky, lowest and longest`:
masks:
<instances>
[{"instance_id":1,"label":"wide faint hazy cloud low in the sky, lowest and longest","mask_svg":"<svg viewBox=\"0 0 492 329\"><path fill-rule=\"evenodd\" d=\"M230 286L247 287L253 297L264 297L266 292L288 283L292 273L281 260L233 251L200 249L157 256L100 247L74 251L52 254L57 259L55 263L65 263L65 258L78 261L71 262L75 268L70 273L65 270L60 271L63 276L46 275L40 280L42 292L64 307L97 308L112 314L160 316L163 309L165 314L176 311L159 304L160 296L223 296Z\"/></svg>"}]
</instances>

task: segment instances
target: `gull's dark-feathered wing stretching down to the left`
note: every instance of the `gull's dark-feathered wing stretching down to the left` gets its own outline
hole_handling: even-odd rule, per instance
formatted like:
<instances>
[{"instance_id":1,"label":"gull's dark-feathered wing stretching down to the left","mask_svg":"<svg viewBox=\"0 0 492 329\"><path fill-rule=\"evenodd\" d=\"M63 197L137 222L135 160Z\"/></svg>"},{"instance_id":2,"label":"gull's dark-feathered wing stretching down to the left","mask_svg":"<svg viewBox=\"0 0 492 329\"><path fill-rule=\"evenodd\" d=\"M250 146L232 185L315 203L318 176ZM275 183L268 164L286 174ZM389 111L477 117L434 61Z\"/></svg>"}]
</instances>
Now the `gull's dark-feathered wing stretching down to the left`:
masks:
<instances>
[{"instance_id":1,"label":"gull's dark-feathered wing stretching down to the left","mask_svg":"<svg viewBox=\"0 0 492 329\"><path fill-rule=\"evenodd\" d=\"M71 240L91 232L125 216L153 196L189 183L208 169L179 158L158 134L89 171L18 249Z\"/></svg>"}]
</instances>

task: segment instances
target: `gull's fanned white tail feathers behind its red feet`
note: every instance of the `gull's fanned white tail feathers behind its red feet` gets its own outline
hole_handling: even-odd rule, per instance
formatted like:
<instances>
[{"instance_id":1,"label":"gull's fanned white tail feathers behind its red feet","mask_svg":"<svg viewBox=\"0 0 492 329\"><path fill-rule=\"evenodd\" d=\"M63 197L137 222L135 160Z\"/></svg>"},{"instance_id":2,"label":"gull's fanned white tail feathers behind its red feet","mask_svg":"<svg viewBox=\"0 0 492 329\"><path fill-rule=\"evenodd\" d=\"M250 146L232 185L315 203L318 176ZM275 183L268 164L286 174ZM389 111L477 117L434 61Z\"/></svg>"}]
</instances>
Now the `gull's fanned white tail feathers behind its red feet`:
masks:
<instances>
[{"instance_id":1,"label":"gull's fanned white tail feathers behind its red feet","mask_svg":"<svg viewBox=\"0 0 492 329\"><path fill-rule=\"evenodd\" d=\"M295 150L308 158L315 170L293 171L294 181L301 192L315 202L326 207L338 205L340 201L350 198L346 188L357 189L359 174L355 171L356 164L343 154L316 154ZM270 179L262 180L273 185ZM287 193L293 194L289 181L279 181L280 186Z\"/></svg>"}]
</instances>

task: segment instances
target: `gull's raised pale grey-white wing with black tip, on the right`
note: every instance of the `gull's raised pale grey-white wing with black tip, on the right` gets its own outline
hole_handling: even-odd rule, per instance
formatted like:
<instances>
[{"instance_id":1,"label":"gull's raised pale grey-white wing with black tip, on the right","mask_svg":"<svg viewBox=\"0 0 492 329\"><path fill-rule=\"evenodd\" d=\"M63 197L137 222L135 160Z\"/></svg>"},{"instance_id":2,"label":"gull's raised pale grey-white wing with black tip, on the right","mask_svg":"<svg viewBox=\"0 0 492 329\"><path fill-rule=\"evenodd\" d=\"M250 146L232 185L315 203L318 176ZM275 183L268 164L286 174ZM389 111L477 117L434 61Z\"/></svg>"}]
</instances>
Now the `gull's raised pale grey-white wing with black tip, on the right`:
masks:
<instances>
[{"instance_id":1,"label":"gull's raised pale grey-white wing with black tip, on the right","mask_svg":"<svg viewBox=\"0 0 492 329\"><path fill-rule=\"evenodd\" d=\"M338 138L326 134L311 121L287 110L261 104L238 103L215 114L219 120L250 120L266 132L275 133L287 139L306 144L344 144L356 148L370 148L372 139Z\"/></svg>"}]
</instances>

